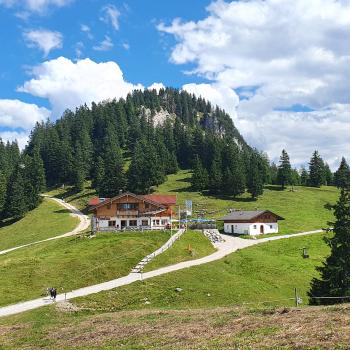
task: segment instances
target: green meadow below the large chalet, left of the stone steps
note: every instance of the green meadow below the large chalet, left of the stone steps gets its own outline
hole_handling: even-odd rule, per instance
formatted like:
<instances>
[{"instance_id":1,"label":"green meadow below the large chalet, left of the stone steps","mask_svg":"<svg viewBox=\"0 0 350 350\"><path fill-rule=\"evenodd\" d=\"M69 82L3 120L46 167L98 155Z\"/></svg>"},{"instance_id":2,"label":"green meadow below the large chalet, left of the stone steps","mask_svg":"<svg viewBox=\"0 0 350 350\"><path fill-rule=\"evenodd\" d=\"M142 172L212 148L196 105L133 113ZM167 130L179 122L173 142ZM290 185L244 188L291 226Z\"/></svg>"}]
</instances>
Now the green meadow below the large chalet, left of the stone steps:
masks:
<instances>
[{"instance_id":1,"label":"green meadow below the large chalet, left of the stone steps","mask_svg":"<svg viewBox=\"0 0 350 350\"><path fill-rule=\"evenodd\" d=\"M50 286L70 291L127 275L168 237L154 231L69 237L0 256L0 306L38 298Z\"/></svg>"}]
</instances>

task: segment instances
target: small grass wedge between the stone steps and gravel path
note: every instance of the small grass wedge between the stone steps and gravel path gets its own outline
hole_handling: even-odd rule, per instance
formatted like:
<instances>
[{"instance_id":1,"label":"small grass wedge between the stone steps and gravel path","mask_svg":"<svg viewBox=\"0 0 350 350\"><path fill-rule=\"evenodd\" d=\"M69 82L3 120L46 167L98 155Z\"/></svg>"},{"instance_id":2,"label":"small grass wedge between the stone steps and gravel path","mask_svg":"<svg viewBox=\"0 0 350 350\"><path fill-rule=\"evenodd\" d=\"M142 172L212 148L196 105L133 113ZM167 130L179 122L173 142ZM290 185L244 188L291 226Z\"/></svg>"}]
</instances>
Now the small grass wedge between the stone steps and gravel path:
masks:
<instances>
[{"instance_id":1,"label":"small grass wedge between the stone steps and gravel path","mask_svg":"<svg viewBox=\"0 0 350 350\"><path fill-rule=\"evenodd\" d=\"M171 248L147 264L144 271L152 271L181 261L199 259L214 252L215 248L201 232L189 230Z\"/></svg>"}]
</instances>

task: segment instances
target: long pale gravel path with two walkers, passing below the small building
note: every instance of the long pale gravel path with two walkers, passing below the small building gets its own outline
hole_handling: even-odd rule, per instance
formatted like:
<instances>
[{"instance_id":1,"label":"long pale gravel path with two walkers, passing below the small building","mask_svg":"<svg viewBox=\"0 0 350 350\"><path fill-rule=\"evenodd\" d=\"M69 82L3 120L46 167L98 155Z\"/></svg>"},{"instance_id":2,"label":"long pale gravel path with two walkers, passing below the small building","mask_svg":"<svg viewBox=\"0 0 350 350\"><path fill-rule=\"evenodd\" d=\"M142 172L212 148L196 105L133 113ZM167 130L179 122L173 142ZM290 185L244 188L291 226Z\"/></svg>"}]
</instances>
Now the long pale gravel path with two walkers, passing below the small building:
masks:
<instances>
[{"instance_id":1,"label":"long pale gravel path with two walkers, passing below the small building","mask_svg":"<svg viewBox=\"0 0 350 350\"><path fill-rule=\"evenodd\" d=\"M208 262L212 262L215 260L222 259L228 254L231 254L235 252L238 249L244 249L253 245L257 245L260 243L268 242L268 241L274 241L278 239L289 239L293 237L299 237L299 236L305 236L305 235L310 235L313 233L318 233L322 232L322 230L315 230L315 231L308 231L308 232L301 232L301 233L296 233L296 234L291 234L291 235L283 235L283 236L274 236L274 237L267 237L267 238L262 238L262 239L243 239L239 237L231 237L227 235L221 235L224 238L224 242L216 243L215 247L217 248L217 251L211 255L205 256L200 259L196 260L190 260L190 261L184 261L175 265L171 266L166 266L162 267L160 269L146 272L146 273L130 273L129 275L121 278L117 278L115 280L111 280L108 282L104 283L99 283L95 284L93 286L89 287L84 287L80 288L77 290L74 290L72 292L69 292L67 294L59 294L57 295L56 301L64 301L64 300L69 300L77 297L82 297L94 293L98 293L101 291L105 290L111 290L117 287L125 286L128 284L131 284L133 282L139 281L141 279L145 280L148 278L160 276L169 272L173 271L178 271L182 270L185 268L189 268L191 266L197 266L197 265L202 265L206 264ZM0 308L0 317L1 316L9 316L9 315L14 315L17 313L21 313L23 311L27 310L33 310L41 306L49 305L52 303L52 300L49 299L35 299L35 300L30 300L14 305L9 305Z\"/></svg>"}]
</instances>

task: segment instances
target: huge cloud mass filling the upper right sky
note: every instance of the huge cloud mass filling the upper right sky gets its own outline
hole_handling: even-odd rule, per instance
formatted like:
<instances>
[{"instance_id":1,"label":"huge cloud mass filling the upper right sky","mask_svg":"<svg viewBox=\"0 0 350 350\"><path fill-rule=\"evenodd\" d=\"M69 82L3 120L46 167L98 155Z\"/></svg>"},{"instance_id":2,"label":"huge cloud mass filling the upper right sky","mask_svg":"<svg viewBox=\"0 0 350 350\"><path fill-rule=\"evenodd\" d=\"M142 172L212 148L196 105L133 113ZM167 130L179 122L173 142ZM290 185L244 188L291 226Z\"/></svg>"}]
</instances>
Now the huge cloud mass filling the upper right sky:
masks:
<instances>
[{"instance_id":1,"label":"huge cloud mass filling the upper right sky","mask_svg":"<svg viewBox=\"0 0 350 350\"><path fill-rule=\"evenodd\" d=\"M324 149L330 162L350 152L346 138L330 135L350 130L348 2L219 0L207 11L197 22L158 25L176 40L171 62L191 63L190 74L210 81L204 87L191 84L192 91L204 89L199 93L232 113L237 101L222 89L234 89L241 98L236 124L272 158L282 145L292 159L303 154L304 161L314 148ZM314 111L295 113L295 105Z\"/></svg>"}]
</instances>

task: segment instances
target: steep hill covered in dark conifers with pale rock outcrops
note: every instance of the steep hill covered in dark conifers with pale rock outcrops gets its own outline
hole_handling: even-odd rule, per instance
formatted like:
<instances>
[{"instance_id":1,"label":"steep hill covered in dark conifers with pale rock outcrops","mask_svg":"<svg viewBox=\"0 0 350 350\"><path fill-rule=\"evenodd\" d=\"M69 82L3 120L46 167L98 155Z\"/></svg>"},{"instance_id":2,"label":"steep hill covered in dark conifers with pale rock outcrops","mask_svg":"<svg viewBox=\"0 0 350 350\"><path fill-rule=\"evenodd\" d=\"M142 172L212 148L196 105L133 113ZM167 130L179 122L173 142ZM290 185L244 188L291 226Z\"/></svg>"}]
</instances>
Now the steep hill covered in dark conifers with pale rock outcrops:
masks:
<instances>
[{"instance_id":1,"label":"steep hill covered in dark conifers with pale rock outcrops","mask_svg":"<svg viewBox=\"0 0 350 350\"><path fill-rule=\"evenodd\" d=\"M246 185L260 188L269 167L225 111L170 88L68 110L56 123L37 124L25 153L40 154L49 186L79 191L91 179L103 197L147 193L179 168L196 170L195 188L225 186L236 195Z\"/></svg>"}]
</instances>

